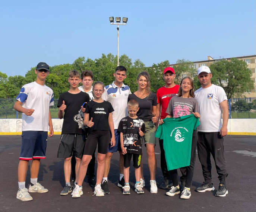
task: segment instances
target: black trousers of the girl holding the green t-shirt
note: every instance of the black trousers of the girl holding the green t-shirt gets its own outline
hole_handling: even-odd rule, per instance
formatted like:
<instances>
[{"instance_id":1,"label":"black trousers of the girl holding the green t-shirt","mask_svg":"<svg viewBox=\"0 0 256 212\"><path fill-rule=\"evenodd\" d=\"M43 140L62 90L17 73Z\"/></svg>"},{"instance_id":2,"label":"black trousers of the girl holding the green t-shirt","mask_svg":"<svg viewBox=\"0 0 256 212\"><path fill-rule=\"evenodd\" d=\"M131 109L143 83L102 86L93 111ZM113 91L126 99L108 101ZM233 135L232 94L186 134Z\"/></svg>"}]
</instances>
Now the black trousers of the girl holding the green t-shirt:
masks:
<instances>
[{"instance_id":1,"label":"black trousers of the girl holding the green t-shirt","mask_svg":"<svg viewBox=\"0 0 256 212\"><path fill-rule=\"evenodd\" d=\"M187 188L191 187L192 179L194 175L194 167L195 167L195 161L196 161L196 146L197 146L197 131L193 131L190 165L180 168L180 171L182 173L181 179L186 179L185 187ZM170 175L171 175L171 181L173 182L173 186L177 186L178 185L177 169L170 170Z\"/></svg>"}]
</instances>

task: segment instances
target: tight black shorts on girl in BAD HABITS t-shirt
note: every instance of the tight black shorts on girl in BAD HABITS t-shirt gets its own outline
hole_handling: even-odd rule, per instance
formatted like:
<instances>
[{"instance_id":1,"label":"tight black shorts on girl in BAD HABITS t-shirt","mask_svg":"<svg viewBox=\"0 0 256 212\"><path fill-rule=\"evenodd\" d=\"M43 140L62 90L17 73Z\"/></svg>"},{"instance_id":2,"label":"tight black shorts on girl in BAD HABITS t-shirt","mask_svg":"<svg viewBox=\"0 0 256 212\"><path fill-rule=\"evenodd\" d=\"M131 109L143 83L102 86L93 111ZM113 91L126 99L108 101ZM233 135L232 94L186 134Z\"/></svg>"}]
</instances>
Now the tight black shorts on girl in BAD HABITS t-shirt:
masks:
<instances>
[{"instance_id":1,"label":"tight black shorts on girl in BAD HABITS t-shirt","mask_svg":"<svg viewBox=\"0 0 256 212\"><path fill-rule=\"evenodd\" d=\"M110 131L108 130L93 130L89 131L83 150L84 155L92 155L98 144L98 153L106 154L108 143L110 141Z\"/></svg>"}]
</instances>

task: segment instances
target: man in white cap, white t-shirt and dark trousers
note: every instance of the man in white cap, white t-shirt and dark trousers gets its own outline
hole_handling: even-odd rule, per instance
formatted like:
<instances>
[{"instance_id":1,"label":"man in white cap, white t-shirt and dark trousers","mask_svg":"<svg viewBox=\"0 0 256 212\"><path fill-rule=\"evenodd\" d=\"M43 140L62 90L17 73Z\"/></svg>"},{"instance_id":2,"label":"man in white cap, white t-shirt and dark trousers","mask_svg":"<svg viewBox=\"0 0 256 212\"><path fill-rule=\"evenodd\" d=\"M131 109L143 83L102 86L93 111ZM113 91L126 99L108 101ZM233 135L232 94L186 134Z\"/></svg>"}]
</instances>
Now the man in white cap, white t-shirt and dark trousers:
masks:
<instances>
[{"instance_id":1,"label":"man in white cap, white t-shirt and dark trousers","mask_svg":"<svg viewBox=\"0 0 256 212\"><path fill-rule=\"evenodd\" d=\"M195 91L199 103L200 125L197 127L197 152L202 165L205 181L196 189L197 192L214 190L211 174L211 154L219 175L219 188L215 196L224 197L228 194L226 177L228 176L224 159L224 139L227 135L228 103L227 95L222 87L211 83L212 73L209 67L197 69L197 76L202 87ZM223 123L221 122L221 111Z\"/></svg>"}]
</instances>

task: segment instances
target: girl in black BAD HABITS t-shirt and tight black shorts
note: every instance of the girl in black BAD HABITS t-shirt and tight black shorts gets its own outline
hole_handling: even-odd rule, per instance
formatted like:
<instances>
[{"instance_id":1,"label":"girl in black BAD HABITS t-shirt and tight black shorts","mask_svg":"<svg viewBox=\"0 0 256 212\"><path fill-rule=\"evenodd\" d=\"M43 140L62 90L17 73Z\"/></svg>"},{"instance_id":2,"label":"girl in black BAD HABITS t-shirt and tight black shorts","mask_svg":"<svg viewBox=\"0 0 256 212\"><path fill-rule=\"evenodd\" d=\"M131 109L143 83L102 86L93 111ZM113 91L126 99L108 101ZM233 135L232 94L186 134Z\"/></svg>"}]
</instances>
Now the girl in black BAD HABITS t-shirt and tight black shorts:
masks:
<instances>
[{"instance_id":1,"label":"girl in black BAD HABITS t-shirt and tight black shorts","mask_svg":"<svg viewBox=\"0 0 256 212\"><path fill-rule=\"evenodd\" d=\"M104 101L101 96L104 92L104 84L100 81L94 83L93 93L95 99L86 104L84 125L88 126L89 133L85 142L83 158L78 172L78 183L72 192L72 197L80 197L83 194L82 183L85 178L88 164L92 158L98 144L98 168L97 181L94 190L96 196L104 196L104 191L101 189L101 180L105 167L105 156L111 137L111 147L116 143L114 134L114 122L112 112L114 111L111 103Z\"/></svg>"}]
</instances>

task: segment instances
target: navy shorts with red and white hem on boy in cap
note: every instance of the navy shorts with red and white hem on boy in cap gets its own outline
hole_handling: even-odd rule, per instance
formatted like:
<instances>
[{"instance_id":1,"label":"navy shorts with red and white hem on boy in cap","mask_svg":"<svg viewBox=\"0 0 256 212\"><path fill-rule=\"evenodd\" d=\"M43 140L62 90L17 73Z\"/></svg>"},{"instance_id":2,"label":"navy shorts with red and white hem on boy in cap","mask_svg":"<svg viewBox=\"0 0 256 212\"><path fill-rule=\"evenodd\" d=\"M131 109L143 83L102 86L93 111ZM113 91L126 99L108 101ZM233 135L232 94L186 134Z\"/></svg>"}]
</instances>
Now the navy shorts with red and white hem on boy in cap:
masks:
<instances>
[{"instance_id":1,"label":"navy shorts with red and white hem on boy in cap","mask_svg":"<svg viewBox=\"0 0 256 212\"><path fill-rule=\"evenodd\" d=\"M47 136L46 131L22 131L19 160L44 159Z\"/></svg>"}]
</instances>

